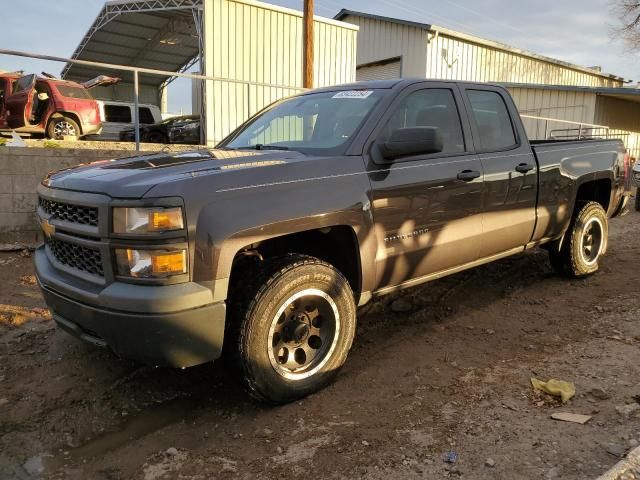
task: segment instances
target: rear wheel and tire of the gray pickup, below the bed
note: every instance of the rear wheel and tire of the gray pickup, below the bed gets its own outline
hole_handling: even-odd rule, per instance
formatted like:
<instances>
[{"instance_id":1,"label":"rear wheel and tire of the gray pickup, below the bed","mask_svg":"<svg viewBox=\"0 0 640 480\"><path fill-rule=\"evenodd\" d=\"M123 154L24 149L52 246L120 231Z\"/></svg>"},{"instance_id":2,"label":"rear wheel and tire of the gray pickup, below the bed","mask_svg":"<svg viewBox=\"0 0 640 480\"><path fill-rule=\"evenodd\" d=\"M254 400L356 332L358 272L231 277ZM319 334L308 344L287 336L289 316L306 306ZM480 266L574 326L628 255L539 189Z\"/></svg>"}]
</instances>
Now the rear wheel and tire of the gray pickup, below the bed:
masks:
<instances>
[{"instance_id":1,"label":"rear wheel and tire of the gray pickup, below the bed","mask_svg":"<svg viewBox=\"0 0 640 480\"><path fill-rule=\"evenodd\" d=\"M584 277L598 271L607 252L609 223L602 205L580 204L574 213L561 246L549 248L551 266L568 277Z\"/></svg>"}]
</instances>

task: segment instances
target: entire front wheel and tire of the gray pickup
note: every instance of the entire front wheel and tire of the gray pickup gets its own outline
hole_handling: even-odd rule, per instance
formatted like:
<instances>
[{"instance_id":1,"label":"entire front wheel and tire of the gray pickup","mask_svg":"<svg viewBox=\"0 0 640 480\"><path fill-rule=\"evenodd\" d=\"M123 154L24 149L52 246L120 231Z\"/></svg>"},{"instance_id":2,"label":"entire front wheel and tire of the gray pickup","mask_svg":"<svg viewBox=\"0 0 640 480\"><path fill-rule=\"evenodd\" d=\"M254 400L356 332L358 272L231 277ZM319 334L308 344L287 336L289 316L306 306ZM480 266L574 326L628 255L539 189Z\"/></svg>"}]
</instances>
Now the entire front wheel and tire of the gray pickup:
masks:
<instances>
[{"instance_id":1,"label":"entire front wheel and tire of the gray pickup","mask_svg":"<svg viewBox=\"0 0 640 480\"><path fill-rule=\"evenodd\" d=\"M258 267L232 287L228 353L252 397L282 404L336 377L351 349L356 307L347 280L322 260L292 254Z\"/></svg>"}]
</instances>

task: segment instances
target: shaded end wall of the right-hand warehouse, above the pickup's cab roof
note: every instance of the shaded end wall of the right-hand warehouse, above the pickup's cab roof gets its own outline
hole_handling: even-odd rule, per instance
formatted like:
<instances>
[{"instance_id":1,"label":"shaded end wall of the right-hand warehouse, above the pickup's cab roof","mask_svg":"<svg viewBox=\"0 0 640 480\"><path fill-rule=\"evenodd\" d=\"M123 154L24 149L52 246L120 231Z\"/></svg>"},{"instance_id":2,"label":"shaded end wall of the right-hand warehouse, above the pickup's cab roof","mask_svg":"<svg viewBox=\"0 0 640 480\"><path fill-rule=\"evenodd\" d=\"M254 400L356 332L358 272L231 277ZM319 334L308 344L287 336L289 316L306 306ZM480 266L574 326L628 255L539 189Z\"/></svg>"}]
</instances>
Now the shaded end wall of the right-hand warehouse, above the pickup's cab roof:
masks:
<instances>
[{"instance_id":1,"label":"shaded end wall of the right-hand warehouse, above the pickup's cab roof","mask_svg":"<svg viewBox=\"0 0 640 480\"><path fill-rule=\"evenodd\" d=\"M353 15L346 21L360 27L358 65L402 57L403 77L424 77L427 74L426 30Z\"/></svg>"}]
</instances>

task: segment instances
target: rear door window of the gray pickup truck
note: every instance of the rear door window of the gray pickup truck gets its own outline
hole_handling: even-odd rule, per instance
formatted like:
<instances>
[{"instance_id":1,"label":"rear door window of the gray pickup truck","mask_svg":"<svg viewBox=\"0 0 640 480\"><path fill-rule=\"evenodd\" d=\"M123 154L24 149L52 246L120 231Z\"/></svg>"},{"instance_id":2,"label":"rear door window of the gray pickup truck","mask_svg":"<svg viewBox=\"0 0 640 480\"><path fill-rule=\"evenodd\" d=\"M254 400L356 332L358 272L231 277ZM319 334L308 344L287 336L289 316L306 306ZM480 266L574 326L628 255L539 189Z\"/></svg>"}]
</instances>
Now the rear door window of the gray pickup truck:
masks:
<instances>
[{"instance_id":1,"label":"rear door window of the gray pickup truck","mask_svg":"<svg viewBox=\"0 0 640 480\"><path fill-rule=\"evenodd\" d=\"M511 118L502 95L486 90L468 90L483 150L502 150L516 144Z\"/></svg>"}]
</instances>

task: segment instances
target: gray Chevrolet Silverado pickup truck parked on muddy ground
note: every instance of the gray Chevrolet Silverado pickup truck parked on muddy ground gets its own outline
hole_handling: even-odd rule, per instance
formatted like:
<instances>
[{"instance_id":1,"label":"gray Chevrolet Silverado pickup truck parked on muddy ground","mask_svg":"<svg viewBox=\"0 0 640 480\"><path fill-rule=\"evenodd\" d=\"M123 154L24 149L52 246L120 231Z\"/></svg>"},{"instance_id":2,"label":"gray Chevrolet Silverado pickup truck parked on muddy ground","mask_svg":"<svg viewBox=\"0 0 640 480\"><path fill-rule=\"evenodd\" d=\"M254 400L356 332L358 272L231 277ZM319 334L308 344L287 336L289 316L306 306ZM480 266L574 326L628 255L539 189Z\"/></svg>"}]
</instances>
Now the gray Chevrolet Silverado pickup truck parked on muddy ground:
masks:
<instances>
[{"instance_id":1,"label":"gray Chevrolet Silverado pickup truck parked on muddy ground","mask_svg":"<svg viewBox=\"0 0 640 480\"><path fill-rule=\"evenodd\" d=\"M357 83L215 149L49 174L35 266L69 333L157 366L224 352L283 403L335 378L373 297L539 246L594 273L630 177L619 140L529 142L500 86Z\"/></svg>"}]
</instances>

